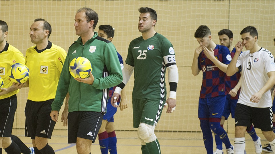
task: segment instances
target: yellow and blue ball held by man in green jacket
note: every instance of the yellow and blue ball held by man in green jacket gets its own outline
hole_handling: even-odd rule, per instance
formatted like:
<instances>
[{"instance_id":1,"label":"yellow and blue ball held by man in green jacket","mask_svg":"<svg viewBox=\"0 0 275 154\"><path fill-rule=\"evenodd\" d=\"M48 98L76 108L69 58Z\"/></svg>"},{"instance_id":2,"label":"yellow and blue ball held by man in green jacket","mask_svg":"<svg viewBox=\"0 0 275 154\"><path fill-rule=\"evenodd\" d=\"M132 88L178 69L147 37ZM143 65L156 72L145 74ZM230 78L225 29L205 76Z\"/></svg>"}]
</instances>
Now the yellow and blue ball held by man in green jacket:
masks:
<instances>
[{"instance_id":1,"label":"yellow and blue ball held by man in green jacket","mask_svg":"<svg viewBox=\"0 0 275 154\"><path fill-rule=\"evenodd\" d=\"M87 78L92 70L92 65L87 58L76 57L70 62L69 70L74 78Z\"/></svg>"}]
</instances>

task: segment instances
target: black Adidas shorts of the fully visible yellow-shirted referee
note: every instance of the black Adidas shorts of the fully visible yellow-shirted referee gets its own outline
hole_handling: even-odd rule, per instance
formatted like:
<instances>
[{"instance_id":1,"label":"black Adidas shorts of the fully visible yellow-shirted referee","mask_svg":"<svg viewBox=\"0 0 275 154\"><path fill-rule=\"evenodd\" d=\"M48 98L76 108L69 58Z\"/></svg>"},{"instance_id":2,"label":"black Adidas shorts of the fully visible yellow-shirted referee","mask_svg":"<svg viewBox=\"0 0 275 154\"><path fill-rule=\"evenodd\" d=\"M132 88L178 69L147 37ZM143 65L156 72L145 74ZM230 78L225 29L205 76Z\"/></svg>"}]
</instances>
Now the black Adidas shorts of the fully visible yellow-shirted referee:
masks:
<instances>
[{"instance_id":1,"label":"black Adidas shorts of the fully visible yellow-shirted referee","mask_svg":"<svg viewBox=\"0 0 275 154\"><path fill-rule=\"evenodd\" d=\"M50 113L54 99L42 102L27 100L25 108L25 136L35 139L36 136L50 139L54 130L55 121Z\"/></svg>"}]
</instances>

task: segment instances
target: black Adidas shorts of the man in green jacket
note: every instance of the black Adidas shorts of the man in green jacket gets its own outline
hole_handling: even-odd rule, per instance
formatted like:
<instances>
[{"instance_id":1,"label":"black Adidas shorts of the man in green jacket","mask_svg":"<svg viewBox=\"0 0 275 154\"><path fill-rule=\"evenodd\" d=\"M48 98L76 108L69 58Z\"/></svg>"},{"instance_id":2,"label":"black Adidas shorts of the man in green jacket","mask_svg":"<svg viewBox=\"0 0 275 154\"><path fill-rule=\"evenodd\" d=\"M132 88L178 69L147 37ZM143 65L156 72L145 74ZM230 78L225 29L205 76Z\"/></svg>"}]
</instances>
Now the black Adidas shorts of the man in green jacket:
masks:
<instances>
[{"instance_id":1,"label":"black Adidas shorts of the man in green jacket","mask_svg":"<svg viewBox=\"0 0 275 154\"><path fill-rule=\"evenodd\" d=\"M95 143L102 124L103 112L78 111L68 114L68 143L76 143L76 137Z\"/></svg>"}]
</instances>

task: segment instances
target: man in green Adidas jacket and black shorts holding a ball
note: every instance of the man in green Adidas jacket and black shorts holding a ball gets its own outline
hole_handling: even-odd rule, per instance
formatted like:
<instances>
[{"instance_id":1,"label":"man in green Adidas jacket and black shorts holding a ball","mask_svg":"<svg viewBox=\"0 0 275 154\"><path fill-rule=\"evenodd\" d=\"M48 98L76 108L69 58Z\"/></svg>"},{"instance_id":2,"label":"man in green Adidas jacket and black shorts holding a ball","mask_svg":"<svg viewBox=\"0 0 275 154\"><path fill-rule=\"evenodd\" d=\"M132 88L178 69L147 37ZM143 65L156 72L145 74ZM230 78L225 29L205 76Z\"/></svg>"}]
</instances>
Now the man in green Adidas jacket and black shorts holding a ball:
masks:
<instances>
[{"instance_id":1,"label":"man in green Adidas jacket and black shorts holding a ball","mask_svg":"<svg viewBox=\"0 0 275 154\"><path fill-rule=\"evenodd\" d=\"M98 15L81 8L75 15L74 27L80 36L69 48L60 74L50 116L57 121L62 102L69 92L68 143L76 143L78 153L90 153L108 100L108 88L122 82L122 71L115 46L94 32ZM92 65L88 78L73 78L69 64L76 57L87 58Z\"/></svg>"}]
</instances>

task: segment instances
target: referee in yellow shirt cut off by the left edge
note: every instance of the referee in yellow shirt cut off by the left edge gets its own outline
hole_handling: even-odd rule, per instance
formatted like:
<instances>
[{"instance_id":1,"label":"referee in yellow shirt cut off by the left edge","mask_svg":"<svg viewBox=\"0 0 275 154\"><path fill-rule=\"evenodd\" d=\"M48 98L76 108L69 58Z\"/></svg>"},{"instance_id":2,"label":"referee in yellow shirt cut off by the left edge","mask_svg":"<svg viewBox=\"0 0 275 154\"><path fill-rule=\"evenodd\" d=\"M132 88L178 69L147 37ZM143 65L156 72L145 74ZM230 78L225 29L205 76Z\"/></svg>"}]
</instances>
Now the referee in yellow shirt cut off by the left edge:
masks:
<instances>
[{"instance_id":1,"label":"referee in yellow shirt cut off by the left edge","mask_svg":"<svg viewBox=\"0 0 275 154\"><path fill-rule=\"evenodd\" d=\"M17 108L16 94L22 84L13 84L9 80L8 70L15 63L23 63L23 54L15 47L7 43L8 25L0 20L0 77L3 79L4 86L0 90L0 147L2 143L6 153L20 153L18 145L11 140L14 114ZM0 148L2 153L2 148Z\"/></svg>"}]
</instances>

